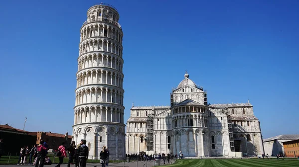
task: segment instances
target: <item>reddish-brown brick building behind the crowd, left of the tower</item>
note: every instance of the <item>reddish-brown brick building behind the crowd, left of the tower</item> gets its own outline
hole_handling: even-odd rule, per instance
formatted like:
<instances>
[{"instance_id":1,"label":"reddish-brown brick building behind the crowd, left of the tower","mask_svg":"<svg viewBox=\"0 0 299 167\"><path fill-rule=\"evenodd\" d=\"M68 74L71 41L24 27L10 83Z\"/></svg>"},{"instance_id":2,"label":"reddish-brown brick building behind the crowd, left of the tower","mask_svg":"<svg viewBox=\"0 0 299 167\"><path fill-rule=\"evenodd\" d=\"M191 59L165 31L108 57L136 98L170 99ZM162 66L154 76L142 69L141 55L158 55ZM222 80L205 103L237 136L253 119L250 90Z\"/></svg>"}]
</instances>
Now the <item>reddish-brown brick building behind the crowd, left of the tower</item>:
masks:
<instances>
[{"instance_id":1,"label":"reddish-brown brick building behind the crowd, left of the tower","mask_svg":"<svg viewBox=\"0 0 299 167\"><path fill-rule=\"evenodd\" d=\"M70 145L72 142L72 136L68 135L66 139L65 134L52 133L52 132L30 132L29 135L36 136L35 144L39 144L40 140L48 139L48 145L50 149L57 150L58 147L64 142L66 145Z\"/></svg>"}]
</instances>

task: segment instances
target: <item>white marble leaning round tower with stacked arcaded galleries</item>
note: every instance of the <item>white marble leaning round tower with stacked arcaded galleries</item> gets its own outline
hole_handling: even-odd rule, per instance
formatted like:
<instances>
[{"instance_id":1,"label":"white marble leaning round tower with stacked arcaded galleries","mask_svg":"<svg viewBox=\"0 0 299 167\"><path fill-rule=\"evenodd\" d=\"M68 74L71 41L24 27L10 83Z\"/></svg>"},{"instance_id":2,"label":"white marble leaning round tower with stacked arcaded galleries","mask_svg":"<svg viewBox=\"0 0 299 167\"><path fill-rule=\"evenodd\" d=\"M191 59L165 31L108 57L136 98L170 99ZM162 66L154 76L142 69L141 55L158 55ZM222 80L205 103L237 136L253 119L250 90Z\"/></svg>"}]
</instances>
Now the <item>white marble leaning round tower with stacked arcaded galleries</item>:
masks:
<instances>
[{"instance_id":1,"label":"white marble leaning round tower with stacked arcaded galleries","mask_svg":"<svg viewBox=\"0 0 299 167\"><path fill-rule=\"evenodd\" d=\"M73 138L87 140L89 158L103 146L110 157L125 154L123 31L117 9L98 4L87 10L80 29Z\"/></svg>"}]
</instances>

